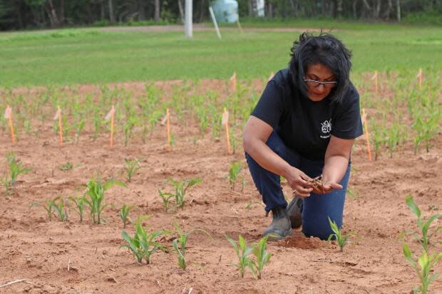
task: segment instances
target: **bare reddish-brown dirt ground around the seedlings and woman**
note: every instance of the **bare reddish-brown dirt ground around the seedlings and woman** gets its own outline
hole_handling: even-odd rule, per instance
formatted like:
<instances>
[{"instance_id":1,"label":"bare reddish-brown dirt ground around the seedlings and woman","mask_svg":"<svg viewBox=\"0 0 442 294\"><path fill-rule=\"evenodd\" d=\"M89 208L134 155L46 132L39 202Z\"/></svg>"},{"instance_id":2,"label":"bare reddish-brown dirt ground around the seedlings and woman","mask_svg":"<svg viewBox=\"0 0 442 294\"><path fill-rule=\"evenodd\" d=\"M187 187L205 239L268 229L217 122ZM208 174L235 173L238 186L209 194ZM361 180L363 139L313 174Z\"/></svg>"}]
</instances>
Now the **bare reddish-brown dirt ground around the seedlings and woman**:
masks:
<instances>
[{"instance_id":1,"label":"bare reddish-brown dirt ground around the seedlings and woman","mask_svg":"<svg viewBox=\"0 0 442 294\"><path fill-rule=\"evenodd\" d=\"M0 293L411 293L419 281L402 253L404 231L416 230L416 220L405 204L411 194L428 217L442 209L442 136L430 152L413 154L412 143L399 147L394 158L386 152L376 162L366 158L364 138L356 141L352 153L353 172L344 209L344 233L351 233L350 244L339 252L334 243L306 238L294 231L285 241L269 243L272 253L262 280L247 271L240 278L232 263L237 257L225 234L256 241L269 224L250 174L245 172L245 189L240 184L231 191L227 180L232 160L242 160L242 148L228 155L225 141L215 142L207 135L196 137L197 125L183 129L172 120L177 142L171 152L165 148L165 129L158 126L146 144L139 138L124 147L116 138L108 147L107 135L95 142L91 133L80 142L58 147L51 122L39 137L21 136L11 146L7 132L0 133L0 174L6 172L5 154L13 149L29 174L19 177L14 196L0 196ZM58 195L78 196L91 177L124 180L125 157L143 158L142 166L128 188L113 187L106 194L106 223L81 223L71 211L68 222L48 221L34 201ZM58 166L73 163L73 169ZM200 177L202 183L186 195L187 203L178 211L163 211L158 188L170 191L170 178ZM287 187L286 187L287 188ZM3 193L4 188L0 187ZM288 191L288 189L287 189ZM118 217L122 204L135 206L130 216L148 214L150 229L174 231L173 223L188 231L204 229L190 236L188 267L177 265L175 251L157 252L151 263L138 264L122 245L123 224ZM436 221L435 225L441 225ZM132 229L127 229L130 233ZM163 238L169 248L176 233ZM441 241L440 236L436 236ZM407 237L411 249L418 243ZM433 243L437 252L439 243ZM442 264L435 268L442 272ZM442 293L442 278L430 286L430 293Z\"/></svg>"}]
</instances>

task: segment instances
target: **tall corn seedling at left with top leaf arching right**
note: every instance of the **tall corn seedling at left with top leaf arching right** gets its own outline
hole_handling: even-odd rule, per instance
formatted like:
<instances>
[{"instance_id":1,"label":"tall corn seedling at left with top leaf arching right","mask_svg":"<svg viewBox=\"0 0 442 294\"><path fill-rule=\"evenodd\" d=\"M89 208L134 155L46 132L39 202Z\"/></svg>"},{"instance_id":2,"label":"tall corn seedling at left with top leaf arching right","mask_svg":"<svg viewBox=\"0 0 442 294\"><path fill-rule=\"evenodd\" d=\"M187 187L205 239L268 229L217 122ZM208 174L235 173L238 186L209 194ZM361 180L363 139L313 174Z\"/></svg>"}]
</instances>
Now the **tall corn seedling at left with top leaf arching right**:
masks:
<instances>
[{"instance_id":1,"label":"tall corn seedling at left with top leaf arching right","mask_svg":"<svg viewBox=\"0 0 442 294\"><path fill-rule=\"evenodd\" d=\"M113 185L118 185L125 187L125 184L115 180L110 180L106 183L101 183L101 179L91 179L87 184L86 195L89 198L84 198L86 204L88 204L91 209L91 217L94 224L101 224L101 212L108 206L108 204L103 204L104 193L107 189L111 188Z\"/></svg>"}]
</instances>

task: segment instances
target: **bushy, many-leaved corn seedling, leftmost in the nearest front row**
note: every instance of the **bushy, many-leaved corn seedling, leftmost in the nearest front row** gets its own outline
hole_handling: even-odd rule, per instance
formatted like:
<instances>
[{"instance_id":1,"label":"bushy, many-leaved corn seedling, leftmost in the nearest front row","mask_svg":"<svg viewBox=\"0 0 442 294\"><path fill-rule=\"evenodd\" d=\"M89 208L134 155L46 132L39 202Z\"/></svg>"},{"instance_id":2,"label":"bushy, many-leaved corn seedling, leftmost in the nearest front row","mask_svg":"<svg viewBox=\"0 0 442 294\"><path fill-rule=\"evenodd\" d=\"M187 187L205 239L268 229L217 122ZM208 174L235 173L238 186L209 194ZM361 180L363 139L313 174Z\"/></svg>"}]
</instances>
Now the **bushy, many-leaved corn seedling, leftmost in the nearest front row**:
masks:
<instances>
[{"instance_id":1,"label":"bushy, many-leaved corn seedling, leftmost in the nearest front row","mask_svg":"<svg viewBox=\"0 0 442 294\"><path fill-rule=\"evenodd\" d=\"M163 250L165 247L157 241L159 236L162 236L167 231L158 230L148 233L142 224L143 217L139 217L135 224L135 233L133 237L130 237L125 231L121 232L121 236L128 244L121 245L120 248L128 248L132 251L138 263L143 262L143 258L147 264L150 263L150 256L155 251Z\"/></svg>"}]
</instances>

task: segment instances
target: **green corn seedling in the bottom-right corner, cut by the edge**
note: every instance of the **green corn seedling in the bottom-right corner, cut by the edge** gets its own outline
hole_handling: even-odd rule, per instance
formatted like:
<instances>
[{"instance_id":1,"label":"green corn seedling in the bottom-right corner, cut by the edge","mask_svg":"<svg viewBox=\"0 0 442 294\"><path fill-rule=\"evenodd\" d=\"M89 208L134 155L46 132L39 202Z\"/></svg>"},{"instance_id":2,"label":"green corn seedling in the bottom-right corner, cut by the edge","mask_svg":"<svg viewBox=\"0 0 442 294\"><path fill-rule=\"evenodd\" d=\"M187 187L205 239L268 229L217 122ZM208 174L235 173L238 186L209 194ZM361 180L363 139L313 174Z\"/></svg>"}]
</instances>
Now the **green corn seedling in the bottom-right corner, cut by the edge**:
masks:
<instances>
[{"instance_id":1,"label":"green corn seedling in the bottom-right corner, cut by the edge","mask_svg":"<svg viewBox=\"0 0 442 294\"><path fill-rule=\"evenodd\" d=\"M438 254L428 254L426 251L423 251L421 256L417 258L417 261L413 259L411 256L410 248L408 245L404 243L403 245L404 256L408 263L414 268L416 273L418 274L419 280L421 281L421 285L413 288L413 293L426 294L428 291L428 286L438 278L438 273L433 273L433 267L436 266L438 261L442 258L442 253Z\"/></svg>"}]
</instances>

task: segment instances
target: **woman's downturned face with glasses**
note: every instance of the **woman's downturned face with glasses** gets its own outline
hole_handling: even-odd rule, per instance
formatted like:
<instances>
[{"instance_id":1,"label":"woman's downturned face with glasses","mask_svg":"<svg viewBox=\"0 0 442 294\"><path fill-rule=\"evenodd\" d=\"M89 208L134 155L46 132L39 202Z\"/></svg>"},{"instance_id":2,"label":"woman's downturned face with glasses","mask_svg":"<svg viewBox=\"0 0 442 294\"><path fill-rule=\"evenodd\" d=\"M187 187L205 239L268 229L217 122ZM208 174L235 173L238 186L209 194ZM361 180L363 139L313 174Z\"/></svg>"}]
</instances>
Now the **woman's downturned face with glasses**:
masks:
<instances>
[{"instance_id":1,"label":"woman's downturned face with glasses","mask_svg":"<svg viewBox=\"0 0 442 294\"><path fill-rule=\"evenodd\" d=\"M309 65L304 75L304 80L317 80L318 82L334 82L335 77L332 70L323 64ZM309 99L315 102L321 101L326 98L336 83L320 84L317 87L309 85L314 83L307 83L307 90L309 93Z\"/></svg>"}]
</instances>

